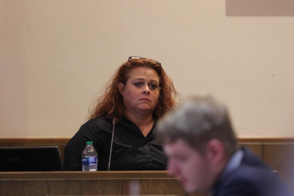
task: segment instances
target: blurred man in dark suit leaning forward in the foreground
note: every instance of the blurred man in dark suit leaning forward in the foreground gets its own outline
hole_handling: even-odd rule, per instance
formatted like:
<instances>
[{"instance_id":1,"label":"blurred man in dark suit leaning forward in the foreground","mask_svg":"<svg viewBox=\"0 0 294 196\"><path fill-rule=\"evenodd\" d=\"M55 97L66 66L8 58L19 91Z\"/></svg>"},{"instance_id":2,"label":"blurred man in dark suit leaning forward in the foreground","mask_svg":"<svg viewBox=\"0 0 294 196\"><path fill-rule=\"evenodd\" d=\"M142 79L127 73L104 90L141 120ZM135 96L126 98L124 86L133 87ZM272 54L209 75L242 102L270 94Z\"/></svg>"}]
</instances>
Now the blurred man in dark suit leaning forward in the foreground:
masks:
<instances>
[{"instance_id":1,"label":"blurred man in dark suit leaning forward in the foreground","mask_svg":"<svg viewBox=\"0 0 294 196\"><path fill-rule=\"evenodd\" d=\"M194 97L157 123L168 172L189 192L213 196L288 196L277 175L250 150L239 148L226 108Z\"/></svg>"}]
</instances>

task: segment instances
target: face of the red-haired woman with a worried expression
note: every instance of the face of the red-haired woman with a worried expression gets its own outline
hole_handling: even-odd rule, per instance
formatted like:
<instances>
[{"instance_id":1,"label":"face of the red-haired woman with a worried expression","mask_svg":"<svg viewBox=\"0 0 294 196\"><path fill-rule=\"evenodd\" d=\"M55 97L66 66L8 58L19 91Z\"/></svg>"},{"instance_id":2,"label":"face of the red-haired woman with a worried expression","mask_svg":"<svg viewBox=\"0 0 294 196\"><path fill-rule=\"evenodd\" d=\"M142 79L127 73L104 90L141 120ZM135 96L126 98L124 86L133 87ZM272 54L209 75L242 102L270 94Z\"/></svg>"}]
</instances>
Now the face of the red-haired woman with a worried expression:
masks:
<instances>
[{"instance_id":1,"label":"face of the red-haired woman with a worried expression","mask_svg":"<svg viewBox=\"0 0 294 196\"><path fill-rule=\"evenodd\" d=\"M159 98L159 76L150 68L134 68L126 85L119 83L119 92L123 95L126 112L152 114Z\"/></svg>"}]
</instances>

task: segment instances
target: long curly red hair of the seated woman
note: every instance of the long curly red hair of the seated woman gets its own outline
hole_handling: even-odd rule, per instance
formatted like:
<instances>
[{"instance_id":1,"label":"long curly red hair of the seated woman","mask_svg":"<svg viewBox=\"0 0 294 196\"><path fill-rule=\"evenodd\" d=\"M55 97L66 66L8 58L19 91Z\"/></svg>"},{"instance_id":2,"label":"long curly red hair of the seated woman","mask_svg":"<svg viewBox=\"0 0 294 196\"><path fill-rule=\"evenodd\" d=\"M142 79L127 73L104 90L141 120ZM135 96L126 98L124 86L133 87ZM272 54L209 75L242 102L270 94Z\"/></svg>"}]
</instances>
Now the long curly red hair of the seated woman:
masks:
<instances>
[{"instance_id":1,"label":"long curly red hair of the seated woman","mask_svg":"<svg viewBox=\"0 0 294 196\"><path fill-rule=\"evenodd\" d=\"M116 121L122 119L124 104L123 96L119 93L119 83L125 85L130 71L136 67L153 69L159 76L160 95L156 108L153 111L153 118L160 118L175 106L175 100L179 98L179 94L176 92L172 80L165 73L162 66L148 58L132 59L120 66L107 82L104 93L94 102L96 107L90 111L89 119L94 119L98 116L103 116L107 119L115 118Z\"/></svg>"}]
</instances>

